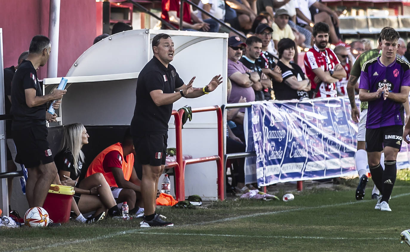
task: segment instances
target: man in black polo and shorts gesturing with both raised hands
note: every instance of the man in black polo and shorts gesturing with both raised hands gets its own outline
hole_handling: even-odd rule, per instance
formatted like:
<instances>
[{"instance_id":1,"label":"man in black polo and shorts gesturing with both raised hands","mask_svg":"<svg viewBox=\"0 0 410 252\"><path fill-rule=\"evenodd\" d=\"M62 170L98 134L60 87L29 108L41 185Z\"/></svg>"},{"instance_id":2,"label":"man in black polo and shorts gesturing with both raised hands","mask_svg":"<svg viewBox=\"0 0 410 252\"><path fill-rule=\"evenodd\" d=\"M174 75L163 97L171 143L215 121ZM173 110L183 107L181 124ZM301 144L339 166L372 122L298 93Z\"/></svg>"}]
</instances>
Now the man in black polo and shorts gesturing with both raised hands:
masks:
<instances>
[{"instance_id":1,"label":"man in black polo and shorts gesturing with both raised hands","mask_svg":"<svg viewBox=\"0 0 410 252\"><path fill-rule=\"evenodd\" d=\"M137 102L131 121L136 158L142 164L141 193L145 216L141 227L173 226L155 213L158 179L165 167L172 104L181 97L196 98L212 92L222 83L221 75L216 75L203 88L192 87L195 77L185 85L169 64L175 54L171 37L157 34L152 46L154 57L138 76Z\"/></svg>"}]
</instances>

